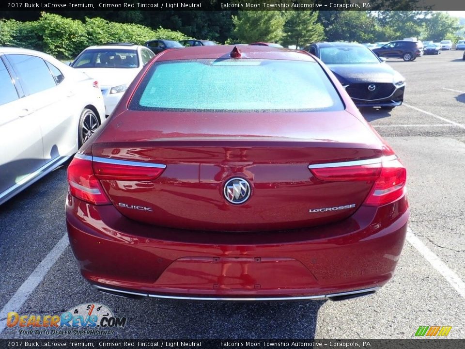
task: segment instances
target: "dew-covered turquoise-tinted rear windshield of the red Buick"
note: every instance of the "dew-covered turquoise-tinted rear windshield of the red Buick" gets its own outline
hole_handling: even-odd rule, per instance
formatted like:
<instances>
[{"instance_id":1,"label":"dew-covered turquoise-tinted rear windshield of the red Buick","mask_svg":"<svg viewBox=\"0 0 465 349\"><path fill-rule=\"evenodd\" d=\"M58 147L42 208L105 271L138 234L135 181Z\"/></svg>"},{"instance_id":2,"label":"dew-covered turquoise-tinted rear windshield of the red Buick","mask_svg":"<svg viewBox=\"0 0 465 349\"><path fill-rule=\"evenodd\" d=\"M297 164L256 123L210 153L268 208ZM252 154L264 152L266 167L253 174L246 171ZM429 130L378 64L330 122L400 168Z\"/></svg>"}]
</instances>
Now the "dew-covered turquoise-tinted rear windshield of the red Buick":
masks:
<instances>
[{"instance_id":1,"label":"dew-covered turquoise-tinted rear windshield of the red Buick","mask_svg":"<svg viewBox=\"0 0 465 349\"><path fill-rule=\"evenodd\" d=\"M142 111L339 111L315 62L217 59L155 63L129 105Z\"/></svg>"}]
</instances>

